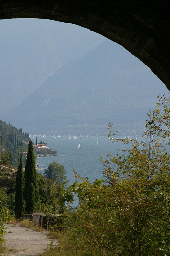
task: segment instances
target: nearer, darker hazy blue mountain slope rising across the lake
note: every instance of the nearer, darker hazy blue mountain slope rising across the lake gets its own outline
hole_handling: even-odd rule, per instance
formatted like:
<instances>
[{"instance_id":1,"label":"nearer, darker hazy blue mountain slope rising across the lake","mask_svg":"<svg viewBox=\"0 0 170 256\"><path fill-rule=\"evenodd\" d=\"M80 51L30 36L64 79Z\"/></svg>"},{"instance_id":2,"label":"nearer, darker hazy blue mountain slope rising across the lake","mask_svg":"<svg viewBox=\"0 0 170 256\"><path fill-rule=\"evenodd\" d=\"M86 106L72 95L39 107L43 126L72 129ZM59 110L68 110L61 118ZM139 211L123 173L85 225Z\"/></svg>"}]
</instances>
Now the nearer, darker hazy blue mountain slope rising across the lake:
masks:
<instances>
[{"instance_id":1,"label":"nearer, darker hazy blue mountain slope rising across the lake","mask_svg":"<svg viewBox=\"0 0 170 256\"><path fill-rule=\"evenodd\" d=\"M109 122L144 122L156 96L165 92L166 86L147 66L106 40L63 65L3 119L29 132L81 133L85 124L97 132Z\"/></svg>"}]
</instances>

